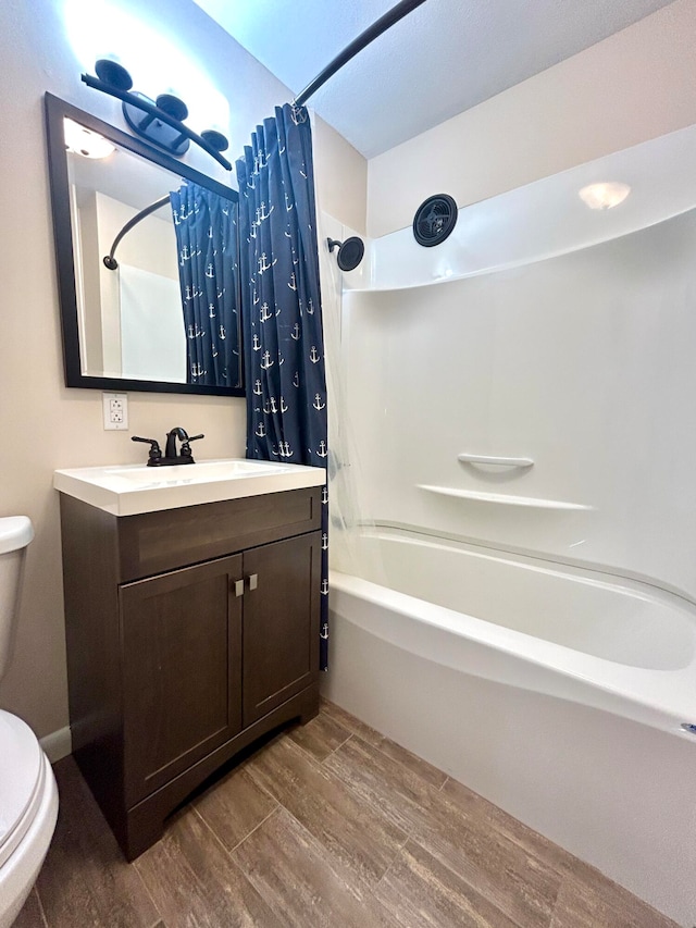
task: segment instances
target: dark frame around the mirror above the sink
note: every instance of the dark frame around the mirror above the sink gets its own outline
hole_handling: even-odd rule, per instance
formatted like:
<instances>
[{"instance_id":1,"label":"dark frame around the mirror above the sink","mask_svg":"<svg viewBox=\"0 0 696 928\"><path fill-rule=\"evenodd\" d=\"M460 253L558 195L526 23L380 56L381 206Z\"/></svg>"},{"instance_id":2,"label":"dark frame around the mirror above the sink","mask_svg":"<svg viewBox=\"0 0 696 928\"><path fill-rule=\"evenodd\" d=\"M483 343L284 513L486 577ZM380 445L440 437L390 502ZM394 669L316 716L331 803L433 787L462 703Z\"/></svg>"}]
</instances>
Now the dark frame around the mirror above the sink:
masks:
<instances>
[{"instance_id":1,"label":"dark frame around the mirror above the sink","mask_svg":"<svg viewBox=\"0 0 696 928\"><path fill-rule=\"evenodd\" d=\"M147 144L121 129L104 123L97 116L86 113L66 103L52 94L45 95L46 128L48 141L49 177L51 187L51 206L53 212L53 238L55 244L55 260L58 268L59 299L61 308L61 324L63 335L63 360L65 369L65 386L84 387L87 389L107 389L116 393L140 391L147 393L185 393L208 396L245 396L244 386L213 386L210 384L167 383L163 381L128 380L126 378L89 376L83 374L79 357L79 332L77 312L77 293L75 286L75 258L73 255L72 220L70 209L70 184L67 174L67 158L65 154L65 138L63 119L69 117L94 132L103 135L109 141L138 154L140 158L171 171L178 177L184 177L202 187L213 190L221 197L238 203L239 195L232 187L214 181L211 177L189 168L187 164L171 158L169 154L156 151ZM237 295L239 306L239 294ZM239 317L238 317L239 318ZM241 357L241 331L237 332ZM241 371L244 378L244 371ZM244 380L243 380L244 384Z\"/></svg>"}]
</instances>

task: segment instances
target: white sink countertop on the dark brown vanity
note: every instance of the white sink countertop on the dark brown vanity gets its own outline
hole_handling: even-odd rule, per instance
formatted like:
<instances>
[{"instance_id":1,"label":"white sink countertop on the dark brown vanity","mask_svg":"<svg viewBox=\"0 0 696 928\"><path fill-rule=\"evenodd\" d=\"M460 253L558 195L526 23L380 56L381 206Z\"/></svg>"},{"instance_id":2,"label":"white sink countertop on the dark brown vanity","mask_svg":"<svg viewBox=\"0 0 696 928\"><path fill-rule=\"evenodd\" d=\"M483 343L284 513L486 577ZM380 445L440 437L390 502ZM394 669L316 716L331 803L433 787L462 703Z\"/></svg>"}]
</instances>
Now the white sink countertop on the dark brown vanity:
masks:
<instances>
[{"instance_id":1,"label":"white sink countertop on the dark brown vanity","mask_svg":"<svg viewBox=\"0 0 696 928\"><path fill-rule=\"evenodd\" d=\"M114 516L322 486L325 482L324 468L244 458L176 467L126 465L53 471L55 490Z\"/></svg>"}]
</instances>

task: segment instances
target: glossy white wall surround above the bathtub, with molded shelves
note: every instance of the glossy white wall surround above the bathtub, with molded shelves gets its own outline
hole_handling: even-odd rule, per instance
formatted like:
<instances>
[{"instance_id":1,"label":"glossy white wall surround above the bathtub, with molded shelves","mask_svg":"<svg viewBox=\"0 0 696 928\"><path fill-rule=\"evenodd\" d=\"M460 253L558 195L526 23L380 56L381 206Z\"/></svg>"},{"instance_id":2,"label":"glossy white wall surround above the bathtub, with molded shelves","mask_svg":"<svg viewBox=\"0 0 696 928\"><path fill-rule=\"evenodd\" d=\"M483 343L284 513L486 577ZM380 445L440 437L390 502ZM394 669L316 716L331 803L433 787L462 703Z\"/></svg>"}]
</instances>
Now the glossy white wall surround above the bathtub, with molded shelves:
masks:
<instances>
[{"instance_id":1,"label":"glossy white wall surround above the bathtub, with molded shelves","mask_svg":"<svg viewBox=\"0 0 696 928\"><path fill-rule=\"evenodd\" d=\"M691 157L696 131L683 132ZM660 173L664 145L639 154L649 162L654 147ZM601 176L612 160L588 168ZM696 436L684 428L696 395L696 186L644 219L638 189L617 210L588 210L575 173L550 185L550 201L538 182L462 210L445 253L422 249L430 268L411 260L408 231L374 243L391 286L402 256L407 286L344 298L361 492L376 522L588 566L696 603ZM630 222L614 226L629 203ZM546 235L559 226L560 253Z\"/></svg>"}]
</instances>

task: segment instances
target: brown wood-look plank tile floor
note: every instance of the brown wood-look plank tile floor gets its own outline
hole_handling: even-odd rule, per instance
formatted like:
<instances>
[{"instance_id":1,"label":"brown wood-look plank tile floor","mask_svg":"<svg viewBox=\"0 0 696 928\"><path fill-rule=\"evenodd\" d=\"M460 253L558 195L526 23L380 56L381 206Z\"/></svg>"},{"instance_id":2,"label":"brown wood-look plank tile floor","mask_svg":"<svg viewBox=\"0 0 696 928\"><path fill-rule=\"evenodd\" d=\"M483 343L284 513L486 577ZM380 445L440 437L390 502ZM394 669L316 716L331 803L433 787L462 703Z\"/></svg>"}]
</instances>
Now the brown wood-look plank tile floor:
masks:
<instances>
[{"instance_id":1,"label":"brown wood-look plank tile floor","mask_svg":"<svg viewBox=\"0 0 696 928\"><path fill-rule=\"evenodd\" d=\"M440 770L324 702L127 864L72 758L15 928L674 926Z\"/></svg>"}]
</instances>

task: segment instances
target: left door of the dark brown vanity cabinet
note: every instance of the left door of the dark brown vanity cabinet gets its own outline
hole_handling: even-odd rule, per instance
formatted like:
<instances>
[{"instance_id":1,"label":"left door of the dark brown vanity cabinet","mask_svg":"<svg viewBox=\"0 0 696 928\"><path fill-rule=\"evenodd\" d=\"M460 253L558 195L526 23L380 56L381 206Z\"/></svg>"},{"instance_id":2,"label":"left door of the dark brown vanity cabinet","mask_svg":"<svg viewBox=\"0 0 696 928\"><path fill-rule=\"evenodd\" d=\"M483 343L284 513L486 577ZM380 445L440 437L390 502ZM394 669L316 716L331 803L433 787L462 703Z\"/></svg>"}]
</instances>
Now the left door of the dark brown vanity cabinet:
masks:
<instances>
[{"instance_id":1,"label":"left door of the dark brown vanity cabinet","mask_svg":"<svg viewBox=\"0 0 696 928\"><path fill-rule=\"evenodd\" d=\"M241 556L121 587L126 804L241 729Z\"/></svg>"}]
</instances>

